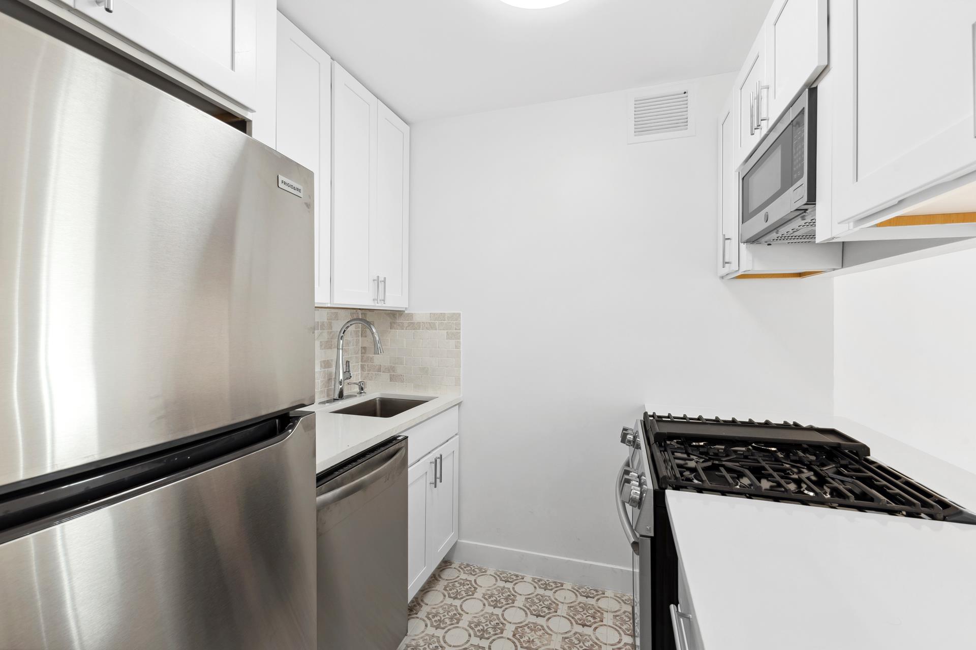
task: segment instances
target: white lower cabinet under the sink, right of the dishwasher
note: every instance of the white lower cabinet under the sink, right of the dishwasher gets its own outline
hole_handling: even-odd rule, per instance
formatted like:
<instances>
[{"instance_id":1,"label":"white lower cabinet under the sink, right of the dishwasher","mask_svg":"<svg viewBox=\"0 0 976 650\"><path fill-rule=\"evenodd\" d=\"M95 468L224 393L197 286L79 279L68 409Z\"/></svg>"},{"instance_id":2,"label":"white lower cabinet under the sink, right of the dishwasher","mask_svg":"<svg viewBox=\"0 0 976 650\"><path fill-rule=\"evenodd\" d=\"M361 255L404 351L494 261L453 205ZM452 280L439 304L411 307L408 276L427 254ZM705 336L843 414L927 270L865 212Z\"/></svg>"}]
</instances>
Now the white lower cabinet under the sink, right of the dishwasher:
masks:
<instances>
[{"instance_id":1,"label":"white lower cabinet under the sink, right of the dishwasher","mask_svg":"<svg viewBox=\"0 0 976 650\"><path fill-rule=\"evenodd\" d=\"M458 541L458 415L455 406L407 431L407 600Z\"/></svg>"}]
</instances>

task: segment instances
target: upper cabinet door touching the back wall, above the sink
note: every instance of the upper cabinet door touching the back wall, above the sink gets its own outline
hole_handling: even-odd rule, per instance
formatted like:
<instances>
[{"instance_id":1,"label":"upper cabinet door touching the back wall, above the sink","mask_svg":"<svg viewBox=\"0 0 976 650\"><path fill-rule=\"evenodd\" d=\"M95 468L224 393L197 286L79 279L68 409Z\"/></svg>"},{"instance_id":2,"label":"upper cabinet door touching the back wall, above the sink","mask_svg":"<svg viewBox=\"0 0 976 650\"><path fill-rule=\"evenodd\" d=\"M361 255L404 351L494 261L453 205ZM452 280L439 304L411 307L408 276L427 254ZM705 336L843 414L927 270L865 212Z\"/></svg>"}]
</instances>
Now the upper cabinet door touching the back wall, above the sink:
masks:
<instances>
[{"instance_id":1,"label":"upper cabinet door touching the back wall, above the sink","mask_svg":"<svg viewBox=\"0 0 976 650\"><path fill-rule=\"evenodd\" d=\"M376 211L370 220L370 276L379 277L380 303L407 307L410 205L410 127L382 102L377 126Z\"/></svg>"}]
</instances>

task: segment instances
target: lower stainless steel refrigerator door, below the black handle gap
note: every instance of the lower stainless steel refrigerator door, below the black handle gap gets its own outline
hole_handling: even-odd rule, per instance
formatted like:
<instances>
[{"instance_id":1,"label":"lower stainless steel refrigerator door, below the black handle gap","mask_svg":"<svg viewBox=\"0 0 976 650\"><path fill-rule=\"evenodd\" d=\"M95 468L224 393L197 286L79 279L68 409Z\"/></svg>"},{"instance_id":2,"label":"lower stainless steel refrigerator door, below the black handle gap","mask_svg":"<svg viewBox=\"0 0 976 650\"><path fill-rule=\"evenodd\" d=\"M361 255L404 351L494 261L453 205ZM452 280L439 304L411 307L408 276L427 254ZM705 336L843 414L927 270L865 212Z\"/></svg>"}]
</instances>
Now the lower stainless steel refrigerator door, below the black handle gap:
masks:
<instances>
[{"instance_id":1,"label":"lower stainless steel refrigerator door, below the black handle gap","mask_svg":"<svg viewBox=\"0 0 976 650\"><path fill-rule=\"evenodd\" d=\"M314 648L314 414L286 433L0 545L0 648Z\"/></svg>"}]
</instances>

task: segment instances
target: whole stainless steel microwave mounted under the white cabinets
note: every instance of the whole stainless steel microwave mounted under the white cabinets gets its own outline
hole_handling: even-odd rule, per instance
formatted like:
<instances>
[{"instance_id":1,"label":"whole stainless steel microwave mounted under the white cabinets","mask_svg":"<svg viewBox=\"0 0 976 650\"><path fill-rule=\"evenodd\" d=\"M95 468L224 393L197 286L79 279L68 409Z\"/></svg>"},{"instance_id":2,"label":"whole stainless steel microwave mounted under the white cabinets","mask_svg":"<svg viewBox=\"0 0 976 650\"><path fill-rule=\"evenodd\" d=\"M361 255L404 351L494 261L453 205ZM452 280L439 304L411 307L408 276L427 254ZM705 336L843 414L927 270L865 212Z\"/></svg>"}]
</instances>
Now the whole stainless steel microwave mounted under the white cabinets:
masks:
<instances>
[{"instance_id":1,"label":"whole stainless steel microwave mounted under the white cabinets","mask_svg":"<svg viewBox=\"0 0 976 650\"><path fill-rule=\"evenodd\" d=\"M793 102L742 168L742 241L815 241L816 176L817 89L810 88Z\"/></svg>"}]
</instances>

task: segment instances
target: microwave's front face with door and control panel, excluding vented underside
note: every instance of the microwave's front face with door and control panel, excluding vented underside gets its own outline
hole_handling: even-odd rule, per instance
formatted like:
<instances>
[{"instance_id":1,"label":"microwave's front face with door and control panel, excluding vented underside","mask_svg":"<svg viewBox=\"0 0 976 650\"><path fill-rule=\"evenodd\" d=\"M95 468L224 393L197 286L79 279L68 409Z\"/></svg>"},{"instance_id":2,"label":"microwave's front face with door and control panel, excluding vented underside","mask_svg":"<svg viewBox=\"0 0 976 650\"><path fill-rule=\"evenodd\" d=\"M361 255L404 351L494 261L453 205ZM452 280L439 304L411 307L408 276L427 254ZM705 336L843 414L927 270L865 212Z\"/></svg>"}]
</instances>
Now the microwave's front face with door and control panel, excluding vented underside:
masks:
<instances>
[{"instance_id":1,"label":"microwave's front face with door and control panel, excluding vented underside","mask_svg":"<svg viewBox=\"0 0 976 650\"><path fill-rule=\"evenodd\" d=\"M813 91L800 96L746 162L741 176L742 241L755 242L815 203Z\"/></svg>"}]
</instances>

